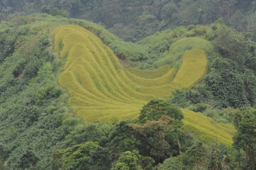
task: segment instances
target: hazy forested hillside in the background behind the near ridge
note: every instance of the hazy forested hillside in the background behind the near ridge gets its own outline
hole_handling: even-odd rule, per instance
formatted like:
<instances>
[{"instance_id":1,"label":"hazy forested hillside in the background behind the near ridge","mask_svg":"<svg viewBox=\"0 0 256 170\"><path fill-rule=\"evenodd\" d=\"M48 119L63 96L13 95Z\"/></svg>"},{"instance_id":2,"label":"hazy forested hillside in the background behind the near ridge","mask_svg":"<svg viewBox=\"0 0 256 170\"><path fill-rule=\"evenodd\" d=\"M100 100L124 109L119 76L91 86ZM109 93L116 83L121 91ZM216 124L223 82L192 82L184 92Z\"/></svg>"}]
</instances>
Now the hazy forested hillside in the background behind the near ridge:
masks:
<instances>
[{"instance_id":1,"label":"hazy forested hillside in the background behind the near ridge","mask_svg":"<svg viewBox=\"0 0 256 170\"><path fill-rule=\"evenodd\" d=\"M255 0L1 0L0 6L4 14L43 12L87 19L133 42L166 28L210 24L218 18L236 30L256 33Z\"/></svg>"}]
</instances>

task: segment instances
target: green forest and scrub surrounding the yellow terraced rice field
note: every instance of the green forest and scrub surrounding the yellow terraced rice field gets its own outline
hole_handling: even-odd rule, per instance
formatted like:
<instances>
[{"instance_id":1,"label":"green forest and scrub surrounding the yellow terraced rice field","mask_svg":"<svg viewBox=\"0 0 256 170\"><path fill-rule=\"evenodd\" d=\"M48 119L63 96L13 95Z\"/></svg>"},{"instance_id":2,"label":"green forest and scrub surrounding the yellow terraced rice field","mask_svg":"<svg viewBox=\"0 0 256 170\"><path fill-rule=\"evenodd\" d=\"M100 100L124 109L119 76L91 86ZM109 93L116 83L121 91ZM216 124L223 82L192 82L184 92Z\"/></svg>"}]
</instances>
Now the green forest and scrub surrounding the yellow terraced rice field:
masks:
<instances>
[{"instance_id":1,"label":"green forest and scrub surrounding the yellow terraced rice field","mask_svg":"<svg viewBox=\"0 0 256 170\"><path fill-rule=\"evenodd\" d=\"M0 169L256 169L255 10L252 0L0 0ZM84 123L60 83L68 59L52 33L64 25L89 30L130 72L181 69L188 50L203 50L207 69L132 119ZM216 132L226 126L231 142Z\"/></svg>"}]
</instances>

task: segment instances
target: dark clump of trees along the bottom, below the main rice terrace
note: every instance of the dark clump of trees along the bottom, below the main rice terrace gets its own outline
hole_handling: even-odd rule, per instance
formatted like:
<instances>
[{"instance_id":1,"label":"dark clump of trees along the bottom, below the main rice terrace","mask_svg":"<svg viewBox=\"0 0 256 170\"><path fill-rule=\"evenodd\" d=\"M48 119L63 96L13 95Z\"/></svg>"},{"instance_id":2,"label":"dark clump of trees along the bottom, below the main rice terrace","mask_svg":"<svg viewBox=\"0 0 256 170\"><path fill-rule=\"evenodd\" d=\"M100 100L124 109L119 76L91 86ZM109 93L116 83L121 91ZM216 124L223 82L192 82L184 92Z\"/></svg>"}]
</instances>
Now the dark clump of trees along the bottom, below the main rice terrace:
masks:
<instances>
[{"instance_id":1,"label":"dark clump of trees along the bottom, below the main rice terrace","mask_svg":"<svg viewBox=\"0 0 256 170\"><path fill-rule=\"evenodd\" d=\"M148 110L152 106L157 107L155 112ZM140 115L144 119L116 125L76 126L65 141L65 146L71 147L52 152L52 169L152 169L179 154L177 141L182 137L182 123L174 121L181 121L181 111L157 99L145 105ZM157 117L152 118L153 115ZM145 123L140 123L147 117Z\"/></svg>"}]
</instances>

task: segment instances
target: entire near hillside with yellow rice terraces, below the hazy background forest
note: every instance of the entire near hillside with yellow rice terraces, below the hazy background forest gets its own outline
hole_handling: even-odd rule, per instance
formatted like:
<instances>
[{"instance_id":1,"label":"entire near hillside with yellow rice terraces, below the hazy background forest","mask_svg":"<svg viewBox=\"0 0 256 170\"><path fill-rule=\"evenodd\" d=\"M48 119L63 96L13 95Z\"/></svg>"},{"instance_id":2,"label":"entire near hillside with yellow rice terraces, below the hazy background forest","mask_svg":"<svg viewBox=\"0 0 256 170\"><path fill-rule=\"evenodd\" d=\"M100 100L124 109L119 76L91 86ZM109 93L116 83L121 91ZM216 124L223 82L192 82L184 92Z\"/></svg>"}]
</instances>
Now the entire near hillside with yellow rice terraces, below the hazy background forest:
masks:
<instances>
[{"instance_id":1,"label":"entire near hillside with yellow rice terraces, below the hazy background forest","mask_svg":"<svg viewBox=\"0 0 256 170\"><path fill-rule=\"evenodd\" d=\"M13 15L0 42L1 169L239 169L233 153L254 154L239 133L255 110L239 108L255 106L255 42L222 21L132 43L88 21Z\"/></svg>"}]
</instances>

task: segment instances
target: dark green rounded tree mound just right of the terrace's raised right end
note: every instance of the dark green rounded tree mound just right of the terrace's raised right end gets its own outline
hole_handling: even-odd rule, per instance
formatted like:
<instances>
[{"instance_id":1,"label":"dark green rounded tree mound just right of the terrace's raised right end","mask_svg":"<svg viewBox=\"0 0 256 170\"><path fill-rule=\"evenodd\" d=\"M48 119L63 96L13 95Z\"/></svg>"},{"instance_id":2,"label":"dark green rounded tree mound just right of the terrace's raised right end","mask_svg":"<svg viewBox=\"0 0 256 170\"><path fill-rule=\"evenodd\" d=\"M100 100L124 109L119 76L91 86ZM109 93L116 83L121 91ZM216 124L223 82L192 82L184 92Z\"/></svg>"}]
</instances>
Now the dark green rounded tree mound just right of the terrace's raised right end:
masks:
<instances>
[{"instance_id":1,"label":"dark green rounded tree mound just right of the terrace's raised right end","mask_svg":"<svg viewBox=\"0 0 256 170\"><path fill-rule=\"evenodd\" d=\"M243 74L237 70L237 64L217 57L211 64L211 72L206 75L206 91L213 95L216 106L239 108L250 106Z\"/></svg>"}]
</instances>

